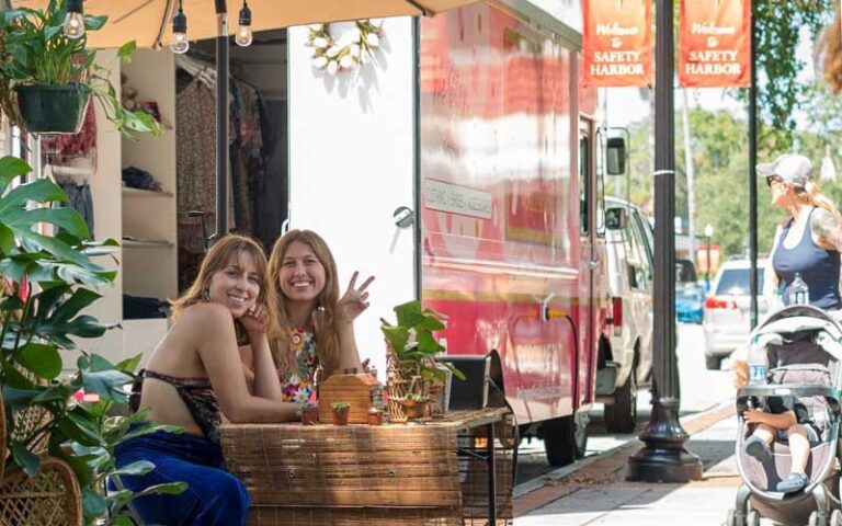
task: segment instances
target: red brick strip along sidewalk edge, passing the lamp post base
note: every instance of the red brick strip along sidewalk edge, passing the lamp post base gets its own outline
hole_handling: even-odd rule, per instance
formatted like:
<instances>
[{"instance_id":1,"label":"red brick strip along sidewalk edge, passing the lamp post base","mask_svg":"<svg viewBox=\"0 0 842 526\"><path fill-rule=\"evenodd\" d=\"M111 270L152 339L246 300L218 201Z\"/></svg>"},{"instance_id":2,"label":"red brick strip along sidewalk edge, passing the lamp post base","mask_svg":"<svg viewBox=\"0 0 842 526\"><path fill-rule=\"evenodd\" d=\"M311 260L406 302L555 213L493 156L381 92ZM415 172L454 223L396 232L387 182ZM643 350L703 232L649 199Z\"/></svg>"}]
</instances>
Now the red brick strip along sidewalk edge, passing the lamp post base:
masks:
<instances>
[{"instance_id":1,"label":"red brick strip along sidewalk edge, passing the lamp post base","mask_svg":"<svg viewBox=\"0 0 842 526\"><path fill-rule=\"evenodd\" d=\"M680 419L680 422L687 434L694 435L733 414L733 402L727 401L699 413L686 415ZM513 503L520 512L515 513L515 516L542 507L576 491L577 485L565 487L564 483L568 479L594 482L600 479L616 477L619 471L625 470L626 458L632 455L630 450L636 450L641 445L640 441L630 439L599 455L593 455L515 485L512 496Z\"/></svg>"}]
</instances>

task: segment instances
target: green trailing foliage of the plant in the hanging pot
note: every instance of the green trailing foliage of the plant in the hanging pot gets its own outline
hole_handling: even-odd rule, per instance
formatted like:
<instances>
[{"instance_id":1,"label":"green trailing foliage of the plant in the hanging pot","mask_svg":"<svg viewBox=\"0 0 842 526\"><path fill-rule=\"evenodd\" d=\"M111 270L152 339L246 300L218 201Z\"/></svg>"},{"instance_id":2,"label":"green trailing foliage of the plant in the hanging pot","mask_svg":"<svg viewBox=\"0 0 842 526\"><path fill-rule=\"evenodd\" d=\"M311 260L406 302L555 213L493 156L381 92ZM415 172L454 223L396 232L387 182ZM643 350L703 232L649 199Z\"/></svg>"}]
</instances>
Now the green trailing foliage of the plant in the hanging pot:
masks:
<instances>
[{"instance_id":1,"label":"green trailing foliage of the plant in the hanging pot","mask_svg":"<svg viewBox=\"0 0 842 526\"><path fill-rule=\"evenodd\" d=\"M132 130L162 133L161 125L143 111L123 107L116 89L107 79L107 71L94 60L96 50L86 47L87 36L72 39L62 32L67 14L66 0L50 0L46 10L20 8L2 13L0 20L0 108L12 124L22 126L16 104L16 85L71 84L86 85L100 101L109 121L124 135ZM98 31L106 16L84 16L86 31ZM135 42L126 43L117 52L129 60Z\"/></svg>"}]
</instances>

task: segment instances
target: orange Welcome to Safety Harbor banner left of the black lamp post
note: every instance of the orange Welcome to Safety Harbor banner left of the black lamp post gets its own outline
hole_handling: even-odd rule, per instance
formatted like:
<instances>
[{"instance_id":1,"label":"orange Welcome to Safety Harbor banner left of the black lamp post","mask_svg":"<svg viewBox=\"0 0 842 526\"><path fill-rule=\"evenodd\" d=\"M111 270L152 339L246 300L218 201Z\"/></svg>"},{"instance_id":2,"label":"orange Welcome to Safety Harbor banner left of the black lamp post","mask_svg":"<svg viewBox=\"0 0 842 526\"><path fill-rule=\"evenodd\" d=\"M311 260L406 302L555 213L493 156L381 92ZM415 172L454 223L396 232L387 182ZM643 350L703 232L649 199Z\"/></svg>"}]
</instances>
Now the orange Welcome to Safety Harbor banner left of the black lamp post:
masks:
<instances>
[{"instance_id":1,"label":"orange Welcome to Safety Harbor banner left of the black lamp post","mask_svg":"<svg viewBox=\"0 0 842 526\"><path fill-rule=\"evenodd\" d=\"M582 83L652 85L650 0L584 0Z\"/></svg>"}]
</instances>

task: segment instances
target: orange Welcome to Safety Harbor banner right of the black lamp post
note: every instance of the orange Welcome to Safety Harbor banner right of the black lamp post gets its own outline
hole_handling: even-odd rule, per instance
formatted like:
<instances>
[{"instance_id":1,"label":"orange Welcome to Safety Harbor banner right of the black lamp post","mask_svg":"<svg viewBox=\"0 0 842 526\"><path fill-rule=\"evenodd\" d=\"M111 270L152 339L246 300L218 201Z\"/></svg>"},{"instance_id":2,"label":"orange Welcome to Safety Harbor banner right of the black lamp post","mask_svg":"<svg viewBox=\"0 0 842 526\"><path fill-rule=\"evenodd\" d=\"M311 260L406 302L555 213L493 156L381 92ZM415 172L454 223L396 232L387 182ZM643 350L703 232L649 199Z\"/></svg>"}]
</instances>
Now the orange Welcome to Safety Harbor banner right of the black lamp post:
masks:
<instances>
[{"instance_id":1,"label":"orange Welcome to Safety Harbor banner right of the black lamp post","mask_svg":"<svg viewBox=\"0 0 842 526\"><path fill-rule=\"evenodd\" d=\"M751 0L681 0L679 85L751 85Z\"/></svg>"}]
</instances>

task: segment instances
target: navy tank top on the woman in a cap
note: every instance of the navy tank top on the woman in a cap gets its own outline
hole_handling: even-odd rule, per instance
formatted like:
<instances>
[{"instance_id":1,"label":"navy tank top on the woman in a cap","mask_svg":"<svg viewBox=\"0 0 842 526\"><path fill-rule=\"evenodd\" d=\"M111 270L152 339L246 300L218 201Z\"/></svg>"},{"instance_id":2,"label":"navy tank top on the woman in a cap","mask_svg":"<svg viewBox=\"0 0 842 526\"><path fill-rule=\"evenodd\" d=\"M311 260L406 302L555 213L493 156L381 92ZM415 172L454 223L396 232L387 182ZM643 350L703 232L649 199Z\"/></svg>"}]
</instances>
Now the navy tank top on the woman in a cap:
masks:
<instances>
[{"instance_id":1,"label":"navy tank top on the woman in a cap","mask_svg":"<svg viewBox=\"0 0 842 526\"><path fill-rule=\"evenodd\" d=\"M812 241L810 217L815 209L812 208L807 217L800 241L792 249L784 247L784 240L795 219L787 221L775 247L772 267L784 287L784 305L789 305L789 285L795 279L795 273L799 272L810 289L810 305L821 309L839 309L842 307L842 298L839 295L839 251L824 250Z\"/></svg>"}]
</instances>

